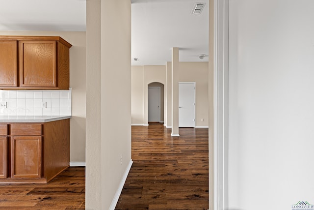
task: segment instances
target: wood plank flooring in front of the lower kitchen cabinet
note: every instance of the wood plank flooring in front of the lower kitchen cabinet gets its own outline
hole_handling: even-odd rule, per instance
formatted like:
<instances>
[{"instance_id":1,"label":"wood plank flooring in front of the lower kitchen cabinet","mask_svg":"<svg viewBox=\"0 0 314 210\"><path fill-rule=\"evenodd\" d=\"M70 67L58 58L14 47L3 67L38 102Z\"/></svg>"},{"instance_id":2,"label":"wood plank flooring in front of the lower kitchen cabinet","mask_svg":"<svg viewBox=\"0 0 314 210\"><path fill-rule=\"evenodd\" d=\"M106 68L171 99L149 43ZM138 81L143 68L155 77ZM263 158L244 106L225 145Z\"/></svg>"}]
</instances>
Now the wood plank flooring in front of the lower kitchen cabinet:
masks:
<instances>
[{"instance_id":1,"label":"wood plank flooring in front of the lower kitchen cabinet","mask_svg":"<svg viewBox=\"0 0 314 210\"><path fill-rule=\"evenodd\" d=\"M47 184L0 184L2 210L84 210L85 167L70 167Z\"/></svg>"}]
</instances>

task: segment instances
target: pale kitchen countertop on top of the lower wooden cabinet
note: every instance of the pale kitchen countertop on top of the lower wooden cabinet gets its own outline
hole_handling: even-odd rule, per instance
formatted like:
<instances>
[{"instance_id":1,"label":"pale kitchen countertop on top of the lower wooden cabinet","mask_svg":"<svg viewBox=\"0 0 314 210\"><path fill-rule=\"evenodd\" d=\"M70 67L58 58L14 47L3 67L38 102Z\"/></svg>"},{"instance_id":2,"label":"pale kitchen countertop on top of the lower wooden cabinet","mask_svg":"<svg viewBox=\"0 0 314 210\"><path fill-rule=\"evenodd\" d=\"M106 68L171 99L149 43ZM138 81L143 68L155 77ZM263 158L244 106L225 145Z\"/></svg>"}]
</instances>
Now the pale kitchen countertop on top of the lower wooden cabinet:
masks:
<instances>
[{"instance_id":1,"label":"pale kitchen countertop on top of the lower wooden cabinet","mask_svg":"<svg viewBox=\"0 0 314 210\"><path fill-rule=\"evenodd\" d=\"M55 120L70 119L71 116L0 116L0 122L51 122Z\"/></svg>"}]
</instances>

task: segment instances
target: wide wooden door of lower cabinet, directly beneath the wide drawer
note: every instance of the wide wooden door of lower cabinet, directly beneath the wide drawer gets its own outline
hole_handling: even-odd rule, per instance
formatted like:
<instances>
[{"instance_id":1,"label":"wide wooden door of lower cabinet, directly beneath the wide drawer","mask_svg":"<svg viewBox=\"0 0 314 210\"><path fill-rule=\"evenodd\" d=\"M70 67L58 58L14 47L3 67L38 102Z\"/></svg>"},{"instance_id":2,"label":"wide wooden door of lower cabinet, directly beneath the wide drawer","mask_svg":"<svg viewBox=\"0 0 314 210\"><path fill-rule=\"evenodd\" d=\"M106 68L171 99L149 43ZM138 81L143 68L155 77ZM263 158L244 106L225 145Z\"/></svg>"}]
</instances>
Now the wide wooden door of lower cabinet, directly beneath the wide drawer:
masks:
<instances>
[{"instance_id":1,"label":"wide wooden door of lower cabinet, directly beneath the wide drawer","mask_svg":"<svg viewBox=\"0 0 314 210\"><path fill-rule=\"evenodd\" d=\"M11 178L40 178L42 160L40 136L11 138Z\"/></svg>"}]
</instances>

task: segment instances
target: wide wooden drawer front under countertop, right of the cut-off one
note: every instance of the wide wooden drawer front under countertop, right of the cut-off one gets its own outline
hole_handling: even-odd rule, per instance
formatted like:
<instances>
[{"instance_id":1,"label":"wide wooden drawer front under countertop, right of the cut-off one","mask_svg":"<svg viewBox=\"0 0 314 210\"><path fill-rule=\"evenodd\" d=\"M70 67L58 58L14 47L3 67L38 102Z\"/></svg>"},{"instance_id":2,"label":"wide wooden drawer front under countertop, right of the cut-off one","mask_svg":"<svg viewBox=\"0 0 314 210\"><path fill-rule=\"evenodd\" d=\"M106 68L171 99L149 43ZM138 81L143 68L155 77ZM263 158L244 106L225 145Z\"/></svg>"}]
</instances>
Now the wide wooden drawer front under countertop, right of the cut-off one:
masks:
<instances>
[{"instance_id":1,"label":"wide wooden drawer front under countertop, right of the cut-off one","mask_svg":"<svg viewBox=\"0 0 314 210\"><path fill-rule=\"evenodd\" d=\"M41 124L12 124L12 136L40 136L42 135Z\"/></svg>"}]
</instances>

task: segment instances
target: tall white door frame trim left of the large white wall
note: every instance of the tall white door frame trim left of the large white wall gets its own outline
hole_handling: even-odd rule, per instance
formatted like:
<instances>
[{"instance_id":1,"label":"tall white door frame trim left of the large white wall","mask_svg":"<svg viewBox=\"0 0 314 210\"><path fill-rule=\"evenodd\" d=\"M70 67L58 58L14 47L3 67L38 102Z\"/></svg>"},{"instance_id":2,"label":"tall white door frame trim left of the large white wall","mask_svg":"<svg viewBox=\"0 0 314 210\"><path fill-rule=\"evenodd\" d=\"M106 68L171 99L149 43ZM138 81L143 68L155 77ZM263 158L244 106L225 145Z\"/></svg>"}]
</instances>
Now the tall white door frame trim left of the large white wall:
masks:
<instances>
[{"instance_id":1,"label":"tall white door frame trim left of the large white wall","mask_svg":"<svg viewBox=\"0 0 314 210\"><path fill-rule=\"evenodd\" d=\"M209 0L212 5L209 14L213 15L213 25L209 24L212 31L213 46L209 50L213 52L213 160L209 164L213 168L213 176L209 176L213 183L213 198L209 199L209 208L213 210L229 209L228 191L228 98L229 98L229 0ZM210 37L210 36L209 36ZM210 143L210 139L209 139ZM209 174L210 175L210 174ZM213 203L210 204L212 199Z\"/></svg>"}]
</instances>

